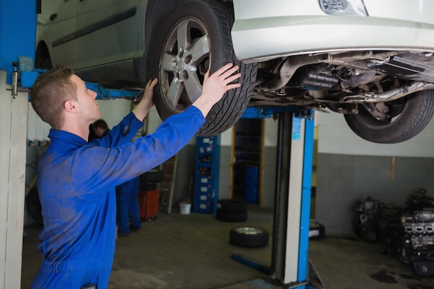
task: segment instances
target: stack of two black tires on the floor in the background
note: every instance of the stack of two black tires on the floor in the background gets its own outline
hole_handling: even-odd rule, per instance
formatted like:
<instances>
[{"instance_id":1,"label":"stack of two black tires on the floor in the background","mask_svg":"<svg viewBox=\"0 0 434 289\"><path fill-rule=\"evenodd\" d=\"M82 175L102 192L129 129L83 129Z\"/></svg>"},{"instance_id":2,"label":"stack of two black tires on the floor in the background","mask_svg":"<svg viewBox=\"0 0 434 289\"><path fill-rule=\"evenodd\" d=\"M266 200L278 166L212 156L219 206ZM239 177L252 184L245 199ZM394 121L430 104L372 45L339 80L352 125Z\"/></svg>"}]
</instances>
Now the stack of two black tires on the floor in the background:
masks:
<instances>
[{"instance_id":1,"label":"stack of two black tires on the floor in the background","mask_svg":"<svg viewBox=\"0 0 434 289\"><path fill-rule=\"evenodd\" d=\"M216 218L223 222L245 222L247 221L248 202L235 200L219 200L217 203Z\"/></svg>"}]
</instances>

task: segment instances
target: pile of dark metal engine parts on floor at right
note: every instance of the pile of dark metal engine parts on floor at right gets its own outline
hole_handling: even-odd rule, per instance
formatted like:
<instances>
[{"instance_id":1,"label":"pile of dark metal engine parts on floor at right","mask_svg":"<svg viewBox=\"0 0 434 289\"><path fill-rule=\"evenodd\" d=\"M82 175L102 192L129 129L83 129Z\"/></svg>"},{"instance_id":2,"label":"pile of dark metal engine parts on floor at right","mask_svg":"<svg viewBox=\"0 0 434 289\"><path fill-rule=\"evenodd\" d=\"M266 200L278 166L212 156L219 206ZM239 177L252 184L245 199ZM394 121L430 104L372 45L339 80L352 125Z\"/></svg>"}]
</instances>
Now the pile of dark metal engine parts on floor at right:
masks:
<instances>
[{"instance_id":1,"label":"pile of dark metal engine parts on floor at right","mask_svg":"<svg viewBox=\"0 0 434 289\"><path fill-rule=\"evenodd\" d=\"M381 241L385 253L413 267L419 277L434 277L434 204L425 189L411 192L406 207L372 198L358 203L354 229L365 241Z\"/></svg>"}]
</instances>

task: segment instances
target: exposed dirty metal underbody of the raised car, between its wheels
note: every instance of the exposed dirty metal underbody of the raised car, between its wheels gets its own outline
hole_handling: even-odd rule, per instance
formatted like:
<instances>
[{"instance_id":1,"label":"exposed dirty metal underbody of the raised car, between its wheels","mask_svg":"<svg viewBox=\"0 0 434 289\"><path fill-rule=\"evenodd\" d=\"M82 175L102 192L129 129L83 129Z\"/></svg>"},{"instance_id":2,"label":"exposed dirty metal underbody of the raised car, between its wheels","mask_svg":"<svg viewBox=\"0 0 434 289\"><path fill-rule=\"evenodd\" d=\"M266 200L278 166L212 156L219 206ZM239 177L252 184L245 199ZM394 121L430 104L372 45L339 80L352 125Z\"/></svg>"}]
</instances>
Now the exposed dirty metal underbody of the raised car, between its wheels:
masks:
<instances>
[{"instance_id":1,"label":"exposed dirty metal underbody of the raised car, between its wheels","mask_svg":"<svg viewBox=\"0 0 434 289\"><path fill-rule=\"evenodd\" d=\"M262 62L250 105L379 103L433 89L430 52L349 51Z\"/></svg>"}]
</instances>

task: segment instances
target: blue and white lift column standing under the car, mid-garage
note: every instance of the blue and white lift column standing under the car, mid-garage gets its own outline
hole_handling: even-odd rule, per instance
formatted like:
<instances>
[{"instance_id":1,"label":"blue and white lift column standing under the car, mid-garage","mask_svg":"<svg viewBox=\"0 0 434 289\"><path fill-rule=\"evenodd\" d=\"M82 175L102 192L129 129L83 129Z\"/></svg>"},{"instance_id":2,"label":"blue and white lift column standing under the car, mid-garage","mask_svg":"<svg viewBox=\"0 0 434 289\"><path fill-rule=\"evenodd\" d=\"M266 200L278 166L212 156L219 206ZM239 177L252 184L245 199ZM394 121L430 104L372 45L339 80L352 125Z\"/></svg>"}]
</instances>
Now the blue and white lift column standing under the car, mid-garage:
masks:
<instances>
[{"instance_id":1,"label":"blue and white lift column standing under the car, mid-garage","mask_svg":"<svg viewBox=\"0 0 434 289\"><path fill-rule=\"evenodd\" d=\"M280 112L270 277L309 288L313 112Z\"/></svg>"}]
</instances>

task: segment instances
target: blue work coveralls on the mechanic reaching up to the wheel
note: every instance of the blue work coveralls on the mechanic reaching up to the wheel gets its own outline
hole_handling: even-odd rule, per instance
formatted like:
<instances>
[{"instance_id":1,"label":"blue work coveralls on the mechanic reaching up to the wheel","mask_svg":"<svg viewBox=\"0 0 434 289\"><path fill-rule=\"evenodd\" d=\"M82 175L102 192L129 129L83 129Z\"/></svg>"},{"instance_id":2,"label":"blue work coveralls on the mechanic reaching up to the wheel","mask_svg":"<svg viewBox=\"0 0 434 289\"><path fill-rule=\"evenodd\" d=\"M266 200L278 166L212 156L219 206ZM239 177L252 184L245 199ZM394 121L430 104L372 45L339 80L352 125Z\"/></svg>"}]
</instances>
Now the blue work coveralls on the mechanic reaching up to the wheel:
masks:
<instances>
[{"instance_id":1,"label":"blue work coveralls on the mechanic reaching up to the wheel","mask_svg":"<svg viewBox=\"0 0 434 289\"><path fill-rule=\"evenodd\" d=\"M115 187L171 158L204 123L200 110L190 106L134 142L142 122L133 113L90 143L51 129L51 144L37 169L44 218L38 250L44 261L31 288L78 289L88 283L107 288L115 245Z\"/></svg>"}]
</instances>

